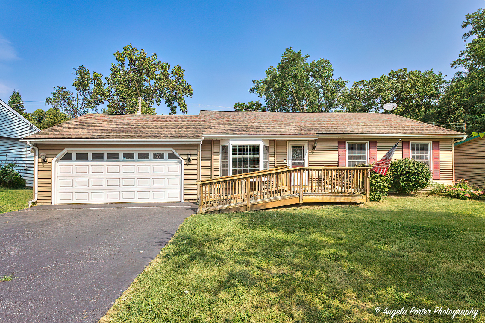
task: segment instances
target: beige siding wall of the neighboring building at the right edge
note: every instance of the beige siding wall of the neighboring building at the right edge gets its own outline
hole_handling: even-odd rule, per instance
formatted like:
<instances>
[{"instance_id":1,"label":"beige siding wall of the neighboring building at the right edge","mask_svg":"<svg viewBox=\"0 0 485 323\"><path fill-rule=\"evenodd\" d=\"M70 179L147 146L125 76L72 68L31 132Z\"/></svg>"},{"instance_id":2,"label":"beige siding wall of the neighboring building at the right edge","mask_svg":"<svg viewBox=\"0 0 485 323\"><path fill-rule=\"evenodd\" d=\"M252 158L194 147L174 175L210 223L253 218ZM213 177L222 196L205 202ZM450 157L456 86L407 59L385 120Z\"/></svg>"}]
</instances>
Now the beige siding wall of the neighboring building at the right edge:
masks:
<instances>
[{"instance_id":1,"label":"beige siding wall of the neighboring building at the right edge","mask_svg":"<svg viewBox=\"0 0 485 323\"><path fill-rule=\"evenodd\" d=\"M455 178L466 179L469 184L484 188L485 138L476 138L454 147Z\"/></svg>"}]
</instances>

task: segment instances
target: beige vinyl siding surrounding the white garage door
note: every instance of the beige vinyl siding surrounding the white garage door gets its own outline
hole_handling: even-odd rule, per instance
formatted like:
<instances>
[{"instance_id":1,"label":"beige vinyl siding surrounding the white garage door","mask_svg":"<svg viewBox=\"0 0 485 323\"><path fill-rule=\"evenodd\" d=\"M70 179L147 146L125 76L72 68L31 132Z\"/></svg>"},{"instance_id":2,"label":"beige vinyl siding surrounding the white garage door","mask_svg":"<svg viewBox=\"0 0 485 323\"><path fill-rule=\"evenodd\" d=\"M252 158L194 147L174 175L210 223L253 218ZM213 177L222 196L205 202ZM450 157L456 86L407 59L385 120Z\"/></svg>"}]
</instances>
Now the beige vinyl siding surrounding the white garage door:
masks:
<instances>
[{"instance_id":1,"label":"beige vinyl siding surrounding the white garage door","mask_svg":"<svg viewBox=\"0 0 485 323\"><path fill-rule=\"evenodd\" d=\"M61 153L64 148L69 147L73 150L76 148L117 148L120 151L128 148L138 148L143 150L173 148L177 154L184 159L184 200L197 200L197 149L198 145L69 145L64 144L37 144L39 155L46 154L47 163L43 163L39 158L39 185L38 185L38 204L51 203L52 194L52 159ZM140 148L143 147L143 148ZM187 154L191 154L192 162L187 162Z\"/></svg>"}]
</instances>

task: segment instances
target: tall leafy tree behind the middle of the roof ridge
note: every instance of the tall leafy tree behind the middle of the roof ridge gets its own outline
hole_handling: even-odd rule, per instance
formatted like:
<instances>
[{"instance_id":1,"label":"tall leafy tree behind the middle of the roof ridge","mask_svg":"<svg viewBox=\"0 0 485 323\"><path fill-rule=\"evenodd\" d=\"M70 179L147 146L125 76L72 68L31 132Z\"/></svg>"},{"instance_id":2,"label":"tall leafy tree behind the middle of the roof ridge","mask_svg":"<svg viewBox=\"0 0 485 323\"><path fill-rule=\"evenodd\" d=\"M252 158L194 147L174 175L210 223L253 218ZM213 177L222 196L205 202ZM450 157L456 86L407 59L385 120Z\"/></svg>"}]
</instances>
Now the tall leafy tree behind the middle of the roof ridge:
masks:
<instances>
[{"instance_id":1,"label":"tall leafy tree behind the middle of the roof ridge","mask_svg":"<svg viewBox=\"0 0 485 323\"><path fill-rule=\"evenodd\" d=\"M309 55L287 48L276 67L266 77L253 80L249 90L264 98L269 111L322 112L337 107L339 93L347 83L333 79L332 64L325 59L307 62Z\"/></svg>"}]
</instances>

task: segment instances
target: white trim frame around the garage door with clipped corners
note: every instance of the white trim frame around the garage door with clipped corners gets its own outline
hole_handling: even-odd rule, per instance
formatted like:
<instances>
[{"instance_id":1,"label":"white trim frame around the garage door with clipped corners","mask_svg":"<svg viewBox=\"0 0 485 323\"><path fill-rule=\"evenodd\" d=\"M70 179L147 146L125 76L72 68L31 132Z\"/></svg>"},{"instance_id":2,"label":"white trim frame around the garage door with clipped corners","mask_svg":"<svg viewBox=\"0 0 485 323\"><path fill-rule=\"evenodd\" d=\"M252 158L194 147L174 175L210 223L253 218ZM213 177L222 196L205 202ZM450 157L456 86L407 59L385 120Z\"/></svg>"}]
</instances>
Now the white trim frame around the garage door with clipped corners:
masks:
<instances>
[{"instance_id":1,"label":"white trim frame around the garage door with clipped corners","mask_svg":"<svg viewBox=\"0 0 485 323\"><path fill-rule=\"evenodd\" d=\"M127 149L120 149L120 148L64 148L62 150L62 152L60 152L59 154L57 154L57 156L55 156L54 158L52 158L52 182L51 182L51 185L50 185L50 191L51 191L51 198L50 198L50 202L52 205L56 204L56 167L57 167L57 163L59 162L58 160L64 156L65 153L67 152L101 152L101 151L105 151L105 152L129 152L129 153L135 153L135 152L140 152L140 153L146 153L146 152L150 152L150 153L166 153L166 152L169 152L171 151L172 153L176 154L178 159L179 159L179 162L180 162L180 201L183 202L184 201L184 193L183 193L183 189L184 189L184 170L183 170L183 166L184 166L184 159L182 158L182 156L180 156L173 148L159 148L159 149L151 149L151 150L140 150L140 149L136 149L136 148L127 148ZM73 154L74 156L74 154ZM88 156L88 158L90 157L90 155ZM165 157L166 157L166 154L165 154ZM150 154L150 158L151 158L151 154ZM136 159L135 159L136 160ZM145 159L145 160L153 160L153 159ZM157 160L157 159L154 159L154 160ZM166 160L166 159L160 159L160 160ZM172 160L175 160L175 159L172 159ZM73 160L71 160L72 162ZM74 160L75 162L76 160ZM96 161L96 159L95 159ZM107 161L107 160L101 160L99 159L98 161ZM114 160L114 161L123 161L123 159L117 159L117 160ZM86 162L86 160L84 160L84 162Z\"/></svg>"}]
</instances>

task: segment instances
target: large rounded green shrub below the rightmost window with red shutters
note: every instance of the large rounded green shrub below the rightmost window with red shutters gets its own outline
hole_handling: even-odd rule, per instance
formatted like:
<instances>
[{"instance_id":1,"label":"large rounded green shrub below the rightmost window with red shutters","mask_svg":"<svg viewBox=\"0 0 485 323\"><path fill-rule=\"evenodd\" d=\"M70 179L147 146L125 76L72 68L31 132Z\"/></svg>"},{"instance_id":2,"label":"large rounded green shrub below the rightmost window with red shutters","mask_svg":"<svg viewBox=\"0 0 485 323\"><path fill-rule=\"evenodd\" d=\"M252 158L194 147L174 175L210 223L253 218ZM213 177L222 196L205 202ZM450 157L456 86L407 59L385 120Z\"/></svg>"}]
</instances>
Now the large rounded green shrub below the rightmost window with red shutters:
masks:
<instances>
[{"instance_id":1,"label":"large rounded green shrub below the rightmost window with red shutters","mask_svg":"<svg viewBox=\"0 0 485 323\"><path fill-rule=\"evenodd\" d=\"M409 194L427 187L431 180L428 165L414 159L396 159L389 166L392 182L391 190L400 194Z\"/></svg>"}]
</instances>

